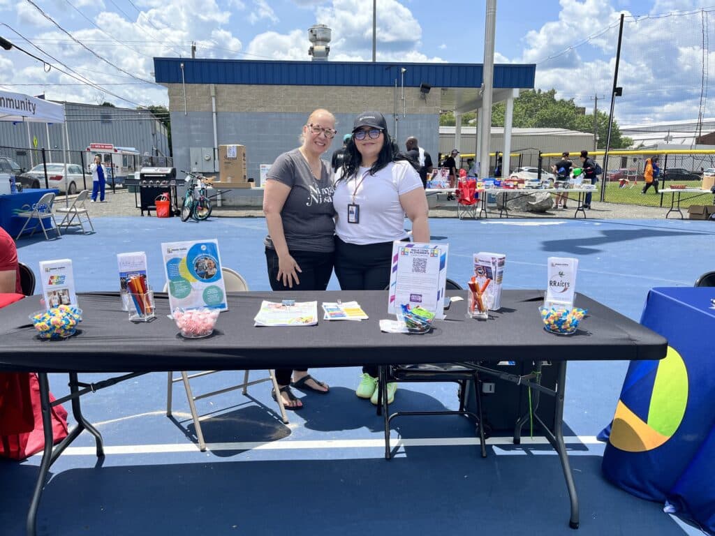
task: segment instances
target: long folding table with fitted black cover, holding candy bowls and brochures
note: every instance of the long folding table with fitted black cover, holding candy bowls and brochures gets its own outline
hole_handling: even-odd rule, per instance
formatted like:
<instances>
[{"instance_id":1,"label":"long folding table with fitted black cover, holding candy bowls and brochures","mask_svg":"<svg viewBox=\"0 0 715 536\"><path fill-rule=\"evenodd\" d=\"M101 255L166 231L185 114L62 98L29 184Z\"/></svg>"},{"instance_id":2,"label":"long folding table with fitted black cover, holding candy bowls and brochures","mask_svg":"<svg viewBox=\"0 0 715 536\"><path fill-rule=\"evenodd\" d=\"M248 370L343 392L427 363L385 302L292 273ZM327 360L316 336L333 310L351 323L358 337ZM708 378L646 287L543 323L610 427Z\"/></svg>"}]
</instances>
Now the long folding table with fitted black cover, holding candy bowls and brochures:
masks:
<instances>
[{"instance_id":1,"label":"long folding table with fitted black cover, holding candy bowls and brochures","mask_svg":"<svg viewBox=\"0 0 715 536\"><path fill-rule=\"evenodd\" d=\"M449 295L463 295L448 291ZM467 301L452 302L445 321L436 321L427 334L380 332L380 318L387 317L387 291L302 292L302 301L343 302L357 300L369 315L361 322L325 322L315 327L254 327L253 318L262 300L280 301L272 292L228 294L230 310L218 319L215 333L204 339L182 339L174 322L167 319L166 294L156 294L157 319L131 324L121 309L118 294L79 294L83 321L77 335L61 342L36 337L28 314L37 309L36 297L21 300L0 310L0 370L38 372L43 407L45 450L34 497L28 513L28 534L34 535L41 492L49 467L64 448L88 430L103 455L102 437L82 416L83 394L147 372L169 370L236 370L266 368L350 367L358 364L424 364L470 362L488 367L487 362L541 363L548 360L558 370L553 388L536 378L526 378L525 388L541 389L554 397L553 431L545 435L558 452L571 505L569 523L578 527L578 498L568 462L561 425L569 360L661 359L666 340L650 329L581 294L576 305L588 309L576 334L559 337L543 329L538 306L543 290L506 290L503 308L477 322L467 314ZM518 329L515 329L518 326ZM77 420L70 435L52 450L49 417L49 372L69 374L70 394ZM99 372L122 374L91 385L79 382L78 374ZM515 421L519 416L514 416Z\"/></svg>"}]
</instances>

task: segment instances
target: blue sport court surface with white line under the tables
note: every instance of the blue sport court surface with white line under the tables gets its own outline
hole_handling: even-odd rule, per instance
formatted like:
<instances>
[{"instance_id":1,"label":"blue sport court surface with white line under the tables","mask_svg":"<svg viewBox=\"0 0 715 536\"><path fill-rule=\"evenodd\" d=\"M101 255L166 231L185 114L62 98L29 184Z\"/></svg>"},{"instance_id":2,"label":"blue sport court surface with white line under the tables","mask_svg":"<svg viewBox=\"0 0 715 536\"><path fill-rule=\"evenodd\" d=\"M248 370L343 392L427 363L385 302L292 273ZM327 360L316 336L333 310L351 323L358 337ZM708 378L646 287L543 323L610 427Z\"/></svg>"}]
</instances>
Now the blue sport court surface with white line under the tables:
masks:
<instances>
[{"instance_id":1,"label":"blue sport court surface with white line under the tables","mask_svg":"<svg viewBox=\"0 0 715 536\"><path fill-rule=\"evenodd\" d=\"M40 260L70 258L79 292L115 291L116 254L144 251L149 282L161 289L162 242L217 238L225 266L240 272L250 289L270 289L262 218L93 221L96 234L70 231L58 240L21 239L20 260L37 273ZM715 267L715 226L709 222L431 219L430 230L434 242L449 244L448 277L463 286L474 252L506 254L506 288L525 289L546 287L547 257L578 257L577 291L636 321L651 287L692 286ZM338 288L335 277L329 288ZM447 360L435 356L435 361ZM601 474L603 445L595 436L613 416L627 366L568 365L564 420L580 500L576 532L568 528L568 494L558 457L543 437L528 437L527 428L518 447L511 437L492 437L482 459L465 418L400 417L393 421L396 455L387 461L382 417L370 402L355 397L360 369L350 367L312 369L330 384L330 394L296 392L305 408L288 412L288 425L280 421L267 383L250 388L248 397L234 391L197 402L207 452L197 447L181 384L174 386L175 420L166 417L165 373L83 397L84 415L104 436L106 457L97 460L87 433L61 455L51 467L38 533L701 534L665 514L663 505L633 497ZM86 382L103 378L80 376ZM195 379L192 387L205 392L240 379L242 372L221 372ZM68 392L66 374L51 374L50 382L57 397ZM454 384L400 384L391 407L457 405ZM74 425L71 416L69 421ZM39 462L39 456L0 462L1 534L24 534Z\"/></svg>"}]
</instances>

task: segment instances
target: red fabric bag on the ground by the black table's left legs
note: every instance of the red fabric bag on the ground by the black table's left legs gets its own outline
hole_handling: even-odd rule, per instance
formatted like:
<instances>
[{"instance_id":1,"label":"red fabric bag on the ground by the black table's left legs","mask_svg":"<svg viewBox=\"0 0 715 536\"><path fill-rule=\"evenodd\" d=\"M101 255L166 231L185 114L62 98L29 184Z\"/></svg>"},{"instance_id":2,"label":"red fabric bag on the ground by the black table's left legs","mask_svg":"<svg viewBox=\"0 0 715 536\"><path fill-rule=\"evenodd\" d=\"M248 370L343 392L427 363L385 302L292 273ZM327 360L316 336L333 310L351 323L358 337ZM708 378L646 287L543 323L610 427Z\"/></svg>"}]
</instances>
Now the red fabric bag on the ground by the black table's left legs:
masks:
<instances>
[{"instance_id":1,"label":"red fabric bag on the ground by the black table's left legs","mask_svg":"<svg viewBox=\"0 0 715 536\"><path fill-rule=\"evenodd\" d=\"M29 432L11 433L0 435L0 456L11 458L12 460L24 460L26 457L34 455L44 449L44 431L42 430L42 409L40 402L40 386L36 374L28 372L17 374L19 382L24 383L29 389L29 394L26 391L19 392L19 399L8 399L6 404L17 407L20 405L26 412L26 408L31 408L32 425L29 426ZM29 396L29 399L26 397ZM54 402L54 397L49 394L50 402ZM51 407L52 413L52 435L54 444L64 440L67 437L67 412L61 405ZM15 417L17 417L15 415ZM3 422L0 420L0 422Z\"/></svg>"}]
</instances>

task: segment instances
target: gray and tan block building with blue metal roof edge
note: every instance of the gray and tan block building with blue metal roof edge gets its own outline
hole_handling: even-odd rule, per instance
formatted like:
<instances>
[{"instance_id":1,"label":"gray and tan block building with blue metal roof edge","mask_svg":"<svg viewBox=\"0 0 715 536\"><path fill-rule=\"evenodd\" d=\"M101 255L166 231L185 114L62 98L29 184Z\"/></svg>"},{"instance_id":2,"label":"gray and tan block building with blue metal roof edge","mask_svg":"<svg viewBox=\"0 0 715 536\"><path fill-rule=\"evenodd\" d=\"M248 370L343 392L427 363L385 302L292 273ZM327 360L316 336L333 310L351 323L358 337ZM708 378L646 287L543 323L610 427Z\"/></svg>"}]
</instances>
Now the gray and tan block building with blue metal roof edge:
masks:
<instances>
[{"instance_id":1,"label":"gray and tan block building with blue metal roof edge","mask_svg":"<svg viewBox=\"0 0 715 536\"><path fill-rule=\"evenodd\" d=\"M533 88L534 65L496 65L495 101ZM177 169L218 171L217 147L246 147L248 177L260 182L261 164L298 147L307 116L330 110L339 134L361 111L381 111L400 147L416 136L433 159L439 152L439 114L478 109L479 64L340 61L246 61L155 58L156 81L167 86Z\"/></svg>"}]
</instances>

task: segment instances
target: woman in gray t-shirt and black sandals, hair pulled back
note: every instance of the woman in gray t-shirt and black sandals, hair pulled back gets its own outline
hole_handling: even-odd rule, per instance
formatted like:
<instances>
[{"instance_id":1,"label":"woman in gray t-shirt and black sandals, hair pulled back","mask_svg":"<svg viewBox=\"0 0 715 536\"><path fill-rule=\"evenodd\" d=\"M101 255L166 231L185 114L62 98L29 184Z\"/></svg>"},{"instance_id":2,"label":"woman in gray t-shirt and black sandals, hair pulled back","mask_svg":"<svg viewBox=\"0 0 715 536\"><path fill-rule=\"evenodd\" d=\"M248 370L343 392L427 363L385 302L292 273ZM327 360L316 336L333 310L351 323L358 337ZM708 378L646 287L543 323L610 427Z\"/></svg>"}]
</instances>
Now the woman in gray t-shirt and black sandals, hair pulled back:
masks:
<instances>
[{"instance_id":1,"label":"woman in gray t-shirt and black sandals, hair pulled back","mask_svg":"<svg viewBox=\"0 0 715 536\"><path fill-rule=\"evenodd\" d=\"M335 221L330 163L320 159L337 131L335 116L317 109L310 114L297 149L281 154L270 168L263 192L268 236L265 254L270 286L277 291L325 290L332 274ZM328 386L307 369L276 369L280 395L288 410L302 402L290 386L327 393ZM292 377L292 382L291 382Z\"/></svg>"}]
</instances>

